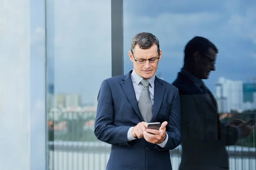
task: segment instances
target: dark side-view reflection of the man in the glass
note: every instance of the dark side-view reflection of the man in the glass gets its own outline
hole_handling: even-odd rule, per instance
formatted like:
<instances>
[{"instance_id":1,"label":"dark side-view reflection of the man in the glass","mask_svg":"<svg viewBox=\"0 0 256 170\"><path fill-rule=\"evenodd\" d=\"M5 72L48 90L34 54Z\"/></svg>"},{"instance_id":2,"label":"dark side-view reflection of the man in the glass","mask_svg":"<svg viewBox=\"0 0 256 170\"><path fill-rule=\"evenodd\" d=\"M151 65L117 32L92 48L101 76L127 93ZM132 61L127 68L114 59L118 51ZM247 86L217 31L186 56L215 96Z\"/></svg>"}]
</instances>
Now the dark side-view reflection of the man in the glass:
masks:
<instances>
[{"instance_id":1,"label":"dark side-view reflection of the man in the glass","mask_svg":"<svg viewBox=\"0 0 256 170\"><path fill-rule=\"evenodd\" d=\"M179 89L182 157L180 170L229 169L227 145L252 132L253 119L220 122L218 105L202 79L215 71L218 49L204 37L194 37L184 49L184 65L172 83Z\"/></svg>"}]
</instances>

